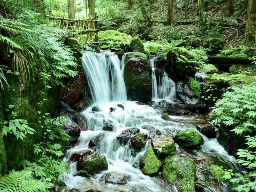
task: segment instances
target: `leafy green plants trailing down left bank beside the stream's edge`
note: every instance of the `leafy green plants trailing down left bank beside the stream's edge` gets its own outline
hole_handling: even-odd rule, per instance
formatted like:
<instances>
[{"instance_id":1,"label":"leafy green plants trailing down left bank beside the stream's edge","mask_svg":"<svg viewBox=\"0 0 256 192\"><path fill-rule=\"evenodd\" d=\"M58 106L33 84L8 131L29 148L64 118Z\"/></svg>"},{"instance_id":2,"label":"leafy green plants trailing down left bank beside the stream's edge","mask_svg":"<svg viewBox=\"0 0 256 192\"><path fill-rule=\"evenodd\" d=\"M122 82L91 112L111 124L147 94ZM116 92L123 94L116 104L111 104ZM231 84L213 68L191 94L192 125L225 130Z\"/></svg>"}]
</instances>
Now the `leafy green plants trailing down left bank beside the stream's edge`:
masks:
<instances>
[{"instance_id":1,"label":"leafy green plants trailing down left bank beside the stream's edge","mask_svg":"<svg viewBox=\"0 0 256 192\"><path fill-rule=\"evenodd\" d=\"M59 158L64 155L63 151L69 142L70 136L62 129L61 122L68 119L58 117L52 119L47 117L48 114L42 116L44 118L44 136L42 142L34 145L34 162L24 160L22 165L26 170L33 172L35 178L44 182L48 187L58 183L58 176L63 172L69 172L66 169L68 164L60 161Z\"/></svg>"}]
</instances>

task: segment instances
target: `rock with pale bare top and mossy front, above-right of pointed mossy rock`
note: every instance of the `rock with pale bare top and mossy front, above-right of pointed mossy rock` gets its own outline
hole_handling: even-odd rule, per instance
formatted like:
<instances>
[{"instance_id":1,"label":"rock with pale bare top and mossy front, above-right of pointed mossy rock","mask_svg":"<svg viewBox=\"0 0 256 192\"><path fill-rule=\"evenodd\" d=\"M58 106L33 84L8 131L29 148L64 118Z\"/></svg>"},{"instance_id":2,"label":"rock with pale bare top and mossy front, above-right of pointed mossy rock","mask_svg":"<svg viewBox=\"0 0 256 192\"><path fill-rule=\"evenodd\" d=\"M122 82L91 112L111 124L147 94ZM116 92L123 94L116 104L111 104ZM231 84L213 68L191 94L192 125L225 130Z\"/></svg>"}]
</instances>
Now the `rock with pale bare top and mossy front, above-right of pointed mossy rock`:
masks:
<instances>
[{"instance_id":1,"label":"rock with pale bare top and mossy front, above-right of pointed mossy rock","mask_svg":"<svg viewBox=\"0 0 256 192\"><path fill-rule=\"evenodd\" d=\"M151 140L154 153L158 156L174 155L176 153L176 145L172 137L157 136Z\"/></svg>"}]
</instances>

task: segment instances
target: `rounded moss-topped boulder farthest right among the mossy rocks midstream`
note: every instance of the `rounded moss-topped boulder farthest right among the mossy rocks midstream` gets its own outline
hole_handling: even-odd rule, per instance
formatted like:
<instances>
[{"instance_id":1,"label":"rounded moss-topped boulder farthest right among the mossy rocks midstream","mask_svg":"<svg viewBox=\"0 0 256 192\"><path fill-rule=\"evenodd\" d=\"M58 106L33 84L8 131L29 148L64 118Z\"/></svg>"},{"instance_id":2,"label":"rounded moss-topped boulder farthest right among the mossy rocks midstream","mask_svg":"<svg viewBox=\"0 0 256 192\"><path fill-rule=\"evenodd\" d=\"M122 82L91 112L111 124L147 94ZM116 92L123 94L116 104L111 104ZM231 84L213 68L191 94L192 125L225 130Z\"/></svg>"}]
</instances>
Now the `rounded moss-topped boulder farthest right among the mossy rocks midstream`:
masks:
<instances>
[{"instance_id":1,"label":"rounded moss-topped boulder farthest right among the mossy rocks midstream","mask_svg":"<svg viewBox=\"0 0 256 192\"><path fill-rule=\"evenodd\" d=\"M194 129L179 132L175 136L175 142L186 148L199 148L204 144L202 136Z\"/></svg>"}]
</instances>

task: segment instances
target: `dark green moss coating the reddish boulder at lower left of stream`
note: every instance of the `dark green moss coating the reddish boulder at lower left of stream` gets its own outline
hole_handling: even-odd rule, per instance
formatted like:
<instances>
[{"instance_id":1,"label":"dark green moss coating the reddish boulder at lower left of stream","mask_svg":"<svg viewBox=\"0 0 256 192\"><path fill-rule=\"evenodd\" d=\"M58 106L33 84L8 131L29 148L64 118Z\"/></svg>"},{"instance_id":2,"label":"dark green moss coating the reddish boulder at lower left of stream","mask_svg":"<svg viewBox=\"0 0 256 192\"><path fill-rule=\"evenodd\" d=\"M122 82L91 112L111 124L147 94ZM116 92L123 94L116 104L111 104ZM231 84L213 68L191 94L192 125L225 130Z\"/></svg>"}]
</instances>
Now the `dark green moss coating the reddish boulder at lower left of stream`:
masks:
<instances>
[{"instance_id":1,"label":"dark green moss coating the reddish boulder at lower left of stream","mask_svg":"<svg viewBox=\"0 0 256 192\"><path fill-rule=\"evenodd\" d=\"M88 173L95 173L102 170L108 169L108 162L106 158L102 158L101 156L97 156L93 160L88 160L85 156L83 159L82 166L84 167L82 170Z\"/></svg>"}]
</instances>

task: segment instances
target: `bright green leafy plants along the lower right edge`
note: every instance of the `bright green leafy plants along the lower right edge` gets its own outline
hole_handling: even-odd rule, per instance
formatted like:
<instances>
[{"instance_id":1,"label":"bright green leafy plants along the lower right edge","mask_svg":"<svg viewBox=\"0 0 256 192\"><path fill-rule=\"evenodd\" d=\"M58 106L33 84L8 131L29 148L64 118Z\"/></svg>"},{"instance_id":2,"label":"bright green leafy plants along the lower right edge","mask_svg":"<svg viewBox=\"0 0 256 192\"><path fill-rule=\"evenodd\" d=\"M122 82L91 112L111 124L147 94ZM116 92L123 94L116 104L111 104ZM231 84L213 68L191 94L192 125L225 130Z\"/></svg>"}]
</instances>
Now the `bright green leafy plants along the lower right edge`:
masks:
<instances>
[{"instance_id":1,"label":"bright green leafy plants along the lower right edge","mask_svg":"<svg viewBox=\"0 0 256 192\"><path fill-rule=\"evenodd\" d=\"M249 192L256 190L256 83L242 88L230 87L228 90L229 92L224 93L223 98L216 102L213 123L232 127L232 132L245 136L247 148L237 152L237 162L246 170L240 173L228 170L224 178L234 184L236 191Z\"/></svg>"}]
</instances>

